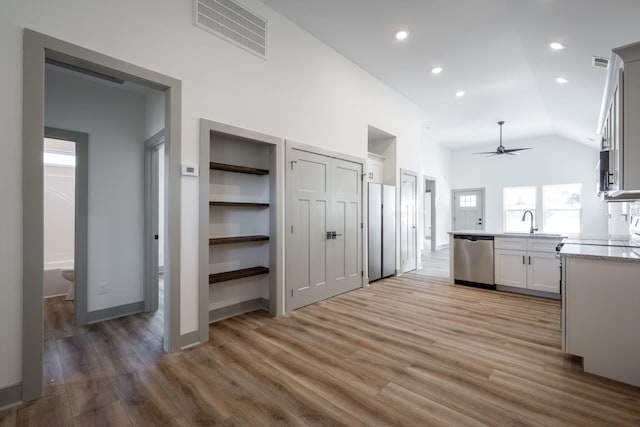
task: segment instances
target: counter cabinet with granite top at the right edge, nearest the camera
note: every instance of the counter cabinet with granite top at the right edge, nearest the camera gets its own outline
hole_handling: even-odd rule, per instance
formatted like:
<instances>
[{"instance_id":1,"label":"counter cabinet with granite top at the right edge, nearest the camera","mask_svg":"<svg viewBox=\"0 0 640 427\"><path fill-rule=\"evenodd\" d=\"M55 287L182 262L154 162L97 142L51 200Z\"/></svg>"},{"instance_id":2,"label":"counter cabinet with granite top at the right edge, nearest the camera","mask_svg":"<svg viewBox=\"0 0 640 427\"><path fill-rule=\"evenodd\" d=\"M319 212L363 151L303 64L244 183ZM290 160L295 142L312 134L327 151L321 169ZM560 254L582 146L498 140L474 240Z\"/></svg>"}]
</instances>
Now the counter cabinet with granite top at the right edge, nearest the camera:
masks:
<instances>
[{"instance_id":1,"label":"counter cabinet with granite top at the right edge, nearest the camera","mask_svg":"<svg viewBox=\"0 0 640 427\"><path fill-rule=\"evenodd\" d=\"M640 247L568 240L560 256L562 350L585 372L640 386Z\"/></svg>"}]
</instances>

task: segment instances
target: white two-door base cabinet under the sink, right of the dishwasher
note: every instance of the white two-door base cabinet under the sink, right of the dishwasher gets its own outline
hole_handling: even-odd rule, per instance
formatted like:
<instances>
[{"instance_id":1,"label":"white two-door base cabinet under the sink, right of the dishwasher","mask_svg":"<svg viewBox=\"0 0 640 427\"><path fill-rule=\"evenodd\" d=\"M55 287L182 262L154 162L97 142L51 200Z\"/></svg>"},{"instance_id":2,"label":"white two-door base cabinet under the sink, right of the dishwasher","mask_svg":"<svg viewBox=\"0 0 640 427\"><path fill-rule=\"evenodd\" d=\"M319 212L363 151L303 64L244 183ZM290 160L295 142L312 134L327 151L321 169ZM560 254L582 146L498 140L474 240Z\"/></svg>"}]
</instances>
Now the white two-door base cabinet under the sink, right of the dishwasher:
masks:
<instances>
[{"instance_id":1,"label":"white two-door base cabinet under the sink, right of the dishwasher","mask_svg":"<svg viewBox=\"0 0 640 427\"><path fill-rule=\"evenodd\" d=\"M559 261L547 238L496 238L494 267L496 285L560 293Z\"/></svg>"}]
</instances>

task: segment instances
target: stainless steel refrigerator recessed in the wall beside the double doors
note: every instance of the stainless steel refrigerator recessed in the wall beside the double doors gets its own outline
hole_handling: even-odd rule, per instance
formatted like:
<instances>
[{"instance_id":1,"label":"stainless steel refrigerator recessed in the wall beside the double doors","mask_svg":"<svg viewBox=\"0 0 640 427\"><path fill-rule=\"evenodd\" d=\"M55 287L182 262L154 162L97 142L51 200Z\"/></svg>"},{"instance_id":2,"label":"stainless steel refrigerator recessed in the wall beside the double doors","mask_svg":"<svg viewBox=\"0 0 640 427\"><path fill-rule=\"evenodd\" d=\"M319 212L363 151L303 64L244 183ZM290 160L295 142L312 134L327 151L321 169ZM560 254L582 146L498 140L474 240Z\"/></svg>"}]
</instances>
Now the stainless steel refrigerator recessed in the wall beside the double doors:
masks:
<instances>
[{"instance_id":1,"label":"stainless steel refrigerator recessed in the wall beside the double doors","mask_svg":"<svg viewBox=\"0 0 640 427\"><path fill-rule=\"evenodd\" d=\"M396 187L369 183L369 281L396 274Z\"/></svg>"}]
</instances>

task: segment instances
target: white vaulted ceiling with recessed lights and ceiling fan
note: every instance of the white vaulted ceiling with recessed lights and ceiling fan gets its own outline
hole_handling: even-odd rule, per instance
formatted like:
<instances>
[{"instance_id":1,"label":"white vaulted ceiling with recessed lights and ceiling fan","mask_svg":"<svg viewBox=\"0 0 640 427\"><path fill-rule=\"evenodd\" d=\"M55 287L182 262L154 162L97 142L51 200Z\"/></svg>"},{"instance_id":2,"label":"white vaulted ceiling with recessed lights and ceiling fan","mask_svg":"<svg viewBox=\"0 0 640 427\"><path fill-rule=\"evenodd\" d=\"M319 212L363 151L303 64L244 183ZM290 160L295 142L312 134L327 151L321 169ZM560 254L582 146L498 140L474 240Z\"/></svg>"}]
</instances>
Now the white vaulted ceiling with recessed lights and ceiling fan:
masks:
<instances>
[{"instance_id":1,"label":"white vaulted ceiling with recessed lights and ceiling fan","mask_svg":"<svg viewBox=\"0 0 640 427\"><path fill-rule=\"evenodd\" d=\"M450 148L496 142L498 120L505 144L596 147L607 72L592 57L640 41L639 0L262 1L417 104L428 139Z\"/></svg>"}]
</instances>

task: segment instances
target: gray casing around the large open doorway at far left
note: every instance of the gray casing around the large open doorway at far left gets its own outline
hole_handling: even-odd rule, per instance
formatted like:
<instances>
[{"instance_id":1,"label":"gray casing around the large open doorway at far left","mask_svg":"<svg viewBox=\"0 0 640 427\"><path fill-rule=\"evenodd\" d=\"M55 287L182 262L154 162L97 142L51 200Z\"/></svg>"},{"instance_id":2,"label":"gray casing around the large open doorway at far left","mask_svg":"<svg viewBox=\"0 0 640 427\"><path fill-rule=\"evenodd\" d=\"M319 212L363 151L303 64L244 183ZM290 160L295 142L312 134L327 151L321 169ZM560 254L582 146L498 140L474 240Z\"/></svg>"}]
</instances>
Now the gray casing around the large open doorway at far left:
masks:
<instances>
[{"instance_id":1,"label":"gray casing around the large open doorway at far left","mask_svg":"<svg viewBox=\"0 0 640 427\"><path fill-rule=\"evenodd\" d=\"M164 349L180 348L181 82L29 29L23 33L22 401L43 394L43 164L45 61L133 81L165 93Z\"/></svg>"}]
</instances>

